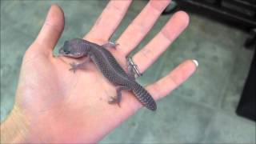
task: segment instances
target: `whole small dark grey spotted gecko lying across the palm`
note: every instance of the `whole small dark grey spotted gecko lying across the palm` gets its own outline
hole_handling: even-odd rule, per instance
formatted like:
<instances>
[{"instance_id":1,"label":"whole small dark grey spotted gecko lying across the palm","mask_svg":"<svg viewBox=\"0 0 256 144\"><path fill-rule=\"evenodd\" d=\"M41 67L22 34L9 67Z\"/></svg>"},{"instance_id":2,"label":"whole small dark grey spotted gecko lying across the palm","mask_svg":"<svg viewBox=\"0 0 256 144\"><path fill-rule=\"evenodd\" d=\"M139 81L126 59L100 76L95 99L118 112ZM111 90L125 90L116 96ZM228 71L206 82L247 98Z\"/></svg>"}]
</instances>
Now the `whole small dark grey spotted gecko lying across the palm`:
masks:
<instances>
[{"instance_id":1,"label":"whole small dark grey spotted gecko lying across the palm","mask_svg":"<svg viewBox=\"0 0 256 144\"><path fill-rule=\"evenodd\" d=\"M62 56L71 58L81 58L86 56L90 58L98 67L98 70L100 70L110 82L118 86L117 96L113 99L112 103L119 104L122 90L131 90L143 106L146 106L149 110L157 110L154 98L152 98L150 93L147 92L143 86L135 81L134 73L131 70L126 73L110 51L106 50L106 47L106 45L99 46L96 43L81 38L75 38L66 41L58 53ZM78 65L73 65L73 69L77 69L79 67Z\"/></svg>"}]
</instances>

